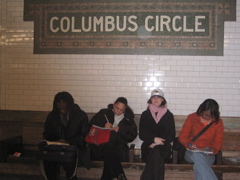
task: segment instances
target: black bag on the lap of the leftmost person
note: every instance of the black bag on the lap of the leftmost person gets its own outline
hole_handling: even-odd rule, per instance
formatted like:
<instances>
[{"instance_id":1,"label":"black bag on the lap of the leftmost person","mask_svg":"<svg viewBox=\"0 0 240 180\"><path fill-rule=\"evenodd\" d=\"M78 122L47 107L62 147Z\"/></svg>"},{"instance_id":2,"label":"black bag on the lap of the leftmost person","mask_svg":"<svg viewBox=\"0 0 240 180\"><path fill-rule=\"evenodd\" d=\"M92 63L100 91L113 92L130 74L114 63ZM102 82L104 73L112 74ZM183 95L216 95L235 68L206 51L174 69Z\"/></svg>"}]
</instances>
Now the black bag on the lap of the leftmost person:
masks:
<instances>
[{"instance_id":1,"label":"black bag on the lap of the leftmost person","mask_svg":"<svg viewBox=\"0 0 240 180\"><path fill-rule=\"evenodd\" d=\"M74 162L79 150L75 145L48 145L46 141L38 144L38 159L57 162Z\"/></svg>"}]
</instances>

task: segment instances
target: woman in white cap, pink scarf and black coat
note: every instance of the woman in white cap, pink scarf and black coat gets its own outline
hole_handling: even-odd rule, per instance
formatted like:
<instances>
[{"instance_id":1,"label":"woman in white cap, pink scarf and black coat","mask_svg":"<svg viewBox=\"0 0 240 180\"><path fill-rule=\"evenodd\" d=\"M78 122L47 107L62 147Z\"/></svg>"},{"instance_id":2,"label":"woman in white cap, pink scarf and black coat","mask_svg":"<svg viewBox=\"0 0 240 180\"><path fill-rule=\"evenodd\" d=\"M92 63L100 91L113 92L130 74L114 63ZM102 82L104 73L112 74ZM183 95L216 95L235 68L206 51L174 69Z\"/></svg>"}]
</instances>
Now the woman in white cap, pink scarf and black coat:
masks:
<instances>
[{"instance_id":1,"label":"woman in white cap, pink scarf and black coat","mask_svg":"<svg viewBox=\"0 0 240 180\"><path fill-rule=\"evenodd\" d=\"M141 180L163 180L164 163L170 159L171 142L175 138L174 117L160 89L151 92L148 104L139 124L139 138L143 141L141 155L146 162Z\"/></svg>"}]
</instances>

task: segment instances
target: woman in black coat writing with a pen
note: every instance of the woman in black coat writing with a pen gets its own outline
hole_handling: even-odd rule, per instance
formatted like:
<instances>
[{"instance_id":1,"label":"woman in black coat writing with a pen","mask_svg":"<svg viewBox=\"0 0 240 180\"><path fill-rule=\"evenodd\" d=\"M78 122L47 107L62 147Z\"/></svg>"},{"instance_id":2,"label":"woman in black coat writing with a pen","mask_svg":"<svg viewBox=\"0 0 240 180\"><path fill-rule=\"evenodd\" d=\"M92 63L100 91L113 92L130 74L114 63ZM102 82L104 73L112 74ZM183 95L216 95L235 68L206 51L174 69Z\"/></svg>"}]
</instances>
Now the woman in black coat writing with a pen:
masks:
<instances>
[{"instance_id":1,"label":"woman in black coat writing with a pen","mask_svg":"<svg viewBox=\"0 0 240 180\"><path fill-rule=\"evenodd\" d=\"M132 142L137 136L134 114L128 106L127 99L119 97L114 104L108 105L107 109L101 109L93 116L90 125L113 128L108 143L101 144L100 146L90 146L91 159L104 160L101 179L127 179L121 166L121 161L129 160L128 143Z\"/></svg>"}]
</instances>

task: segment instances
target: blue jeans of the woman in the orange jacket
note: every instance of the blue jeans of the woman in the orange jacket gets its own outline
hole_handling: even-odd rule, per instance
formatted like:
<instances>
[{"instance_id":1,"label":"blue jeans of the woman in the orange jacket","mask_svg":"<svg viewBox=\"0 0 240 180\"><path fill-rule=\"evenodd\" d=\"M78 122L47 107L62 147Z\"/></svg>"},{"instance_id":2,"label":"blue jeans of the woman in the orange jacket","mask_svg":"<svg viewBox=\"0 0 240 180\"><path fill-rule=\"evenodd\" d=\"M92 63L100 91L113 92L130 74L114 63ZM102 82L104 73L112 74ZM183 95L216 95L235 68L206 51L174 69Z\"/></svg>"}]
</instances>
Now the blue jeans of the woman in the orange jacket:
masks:
<instances>
[{"instance_id":1,"label":"blue jeans of the woman in the orange jacket","mask_svg":"<svg viewBox=\"0 0 240 180\"><path fill-rule=\"evenodd\" d=\"M214 155L187 150L184 158L187 162L194 163L194 180L217 180L217 176L211 168L215 161Z\"/></svg>"}]
</instances>

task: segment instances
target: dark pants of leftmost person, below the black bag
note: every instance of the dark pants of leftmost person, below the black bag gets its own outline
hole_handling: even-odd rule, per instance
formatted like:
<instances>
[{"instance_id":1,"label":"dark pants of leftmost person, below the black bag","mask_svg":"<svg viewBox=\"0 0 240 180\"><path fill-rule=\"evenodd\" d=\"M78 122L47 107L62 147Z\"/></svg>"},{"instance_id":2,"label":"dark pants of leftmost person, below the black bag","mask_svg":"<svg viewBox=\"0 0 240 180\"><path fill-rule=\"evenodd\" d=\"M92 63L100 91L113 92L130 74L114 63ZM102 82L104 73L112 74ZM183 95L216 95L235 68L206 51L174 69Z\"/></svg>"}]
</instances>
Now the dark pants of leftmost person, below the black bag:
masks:
<instances>
[{"instance_id":1,"label":"dark pants of leftmost person, below the black bag","mask_svg":"<svg viewBox=\"0 0 240 180\"><path fill-rule=\"evenodd\" d=\"M56 161L43 161L44 173L48 180L58 180L60 174L60 166L66 171L66 179L77 179L77 160L74 162L56 162Z\"/></svg>"}]
</instances>

